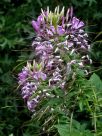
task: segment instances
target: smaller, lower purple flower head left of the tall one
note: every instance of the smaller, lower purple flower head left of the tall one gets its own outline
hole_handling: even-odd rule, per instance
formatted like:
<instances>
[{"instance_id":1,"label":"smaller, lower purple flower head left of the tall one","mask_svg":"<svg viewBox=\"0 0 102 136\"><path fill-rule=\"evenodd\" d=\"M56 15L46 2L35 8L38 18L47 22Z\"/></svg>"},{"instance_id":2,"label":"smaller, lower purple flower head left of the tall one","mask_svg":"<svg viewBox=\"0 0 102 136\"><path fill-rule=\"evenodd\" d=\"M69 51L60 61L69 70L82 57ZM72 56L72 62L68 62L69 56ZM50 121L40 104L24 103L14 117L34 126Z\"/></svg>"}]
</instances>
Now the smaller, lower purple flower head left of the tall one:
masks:
<instances>
[{"instance_id":1,"label":"smaller, lower purple flower head left of the tall one","mask_svg":"<svg viewBox=\"0 0 102 136\"><path fill-rule=\"evenodd\" d=\"M31 111L34 111L43 96L40 91L37 91L39 84L47 78L46 74L42 72L42 68L42 64L37 64L34 61L31 65L28 62L18 75L22 98L27 102L28 109ZM35 94L35 97L31 98L33 94Z\"/></svg>"}]
</instances>

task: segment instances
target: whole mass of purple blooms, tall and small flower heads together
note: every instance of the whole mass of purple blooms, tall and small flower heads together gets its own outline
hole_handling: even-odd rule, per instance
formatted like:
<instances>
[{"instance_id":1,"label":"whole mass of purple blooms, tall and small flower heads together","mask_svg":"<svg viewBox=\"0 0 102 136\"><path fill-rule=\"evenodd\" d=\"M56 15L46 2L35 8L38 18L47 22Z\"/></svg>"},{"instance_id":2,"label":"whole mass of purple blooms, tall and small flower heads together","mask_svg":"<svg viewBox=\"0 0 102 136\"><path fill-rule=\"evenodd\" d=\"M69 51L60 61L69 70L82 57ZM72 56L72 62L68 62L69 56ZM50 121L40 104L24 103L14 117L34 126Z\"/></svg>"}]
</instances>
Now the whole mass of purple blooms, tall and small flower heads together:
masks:
<instances>
[{"instance_id":1,"label":"whole mass of purple blooms, tall and small flower heads together","mask_svg":"<svg viewBox=\"0 0 102 136\"><path fill-rule=\"evenodd\" d=\"M36 38L32 43L36 59L31 65L27 63L19 73L19 84L28 109L34 111L41 98L48 95L39 91L42 82L47 81L48 87L57 86L65 90L68 76L75 72L74 68L85 69L91 63L88 56L90 45L88 35L84 31L85 24L73 16L73 8L59 7L54 12L41 12L37 21L32 21ZM86 69L85 69L86 71Z\"/></svg>"}]
</instances>

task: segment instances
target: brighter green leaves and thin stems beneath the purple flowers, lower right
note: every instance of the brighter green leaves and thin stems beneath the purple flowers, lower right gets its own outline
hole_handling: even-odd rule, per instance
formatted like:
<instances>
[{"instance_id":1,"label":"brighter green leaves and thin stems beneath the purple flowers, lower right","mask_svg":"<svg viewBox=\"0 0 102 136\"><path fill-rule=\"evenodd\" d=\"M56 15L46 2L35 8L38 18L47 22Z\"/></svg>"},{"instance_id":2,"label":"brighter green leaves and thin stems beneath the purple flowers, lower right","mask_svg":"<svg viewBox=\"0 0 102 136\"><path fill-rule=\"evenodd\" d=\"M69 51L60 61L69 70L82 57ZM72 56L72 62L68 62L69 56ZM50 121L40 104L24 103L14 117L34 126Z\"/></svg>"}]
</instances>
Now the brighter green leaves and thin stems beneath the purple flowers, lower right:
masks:
<instances>
[{"instance_id":1,"label":"brighter green leaves and thin stems beneath the purple flowers, lower right","mask_svg":"<svg viewBox=\"0 0 102 136\"><path fill-rule=\"evenodd\" d=\"M77 73L76 79L70 81L66 94L57 87L52 88L52 93L57 97L42 100L32 116L33 127L34 122L38 125L35 133L59 133L60 136L101 135L101 86L102 81L96 74L87 80Z\"/></svg>"}]
</instances>

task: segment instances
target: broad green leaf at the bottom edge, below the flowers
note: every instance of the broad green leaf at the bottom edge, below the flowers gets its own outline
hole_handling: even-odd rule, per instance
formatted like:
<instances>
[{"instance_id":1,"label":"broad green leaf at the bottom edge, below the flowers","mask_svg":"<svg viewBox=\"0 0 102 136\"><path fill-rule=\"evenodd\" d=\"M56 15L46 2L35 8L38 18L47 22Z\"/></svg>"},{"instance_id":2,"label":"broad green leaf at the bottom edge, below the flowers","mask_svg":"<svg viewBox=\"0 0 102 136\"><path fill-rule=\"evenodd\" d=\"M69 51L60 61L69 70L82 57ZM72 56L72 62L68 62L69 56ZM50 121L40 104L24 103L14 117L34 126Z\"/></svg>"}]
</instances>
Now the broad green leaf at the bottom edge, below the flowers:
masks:
<instances>
[{"instance_id":1,"label":"broad green leaf at the bottom edge, below the flowers","mask_svg":"<svg viewBox=\"0 0 102 136\"><path fill-rule=\"evenodd\" d=\"M67 118L67 123L54 125L60 136L93 136L90 130L86 129L86 124L80 124L74 119Z\"/></svg>"}]
</instances>

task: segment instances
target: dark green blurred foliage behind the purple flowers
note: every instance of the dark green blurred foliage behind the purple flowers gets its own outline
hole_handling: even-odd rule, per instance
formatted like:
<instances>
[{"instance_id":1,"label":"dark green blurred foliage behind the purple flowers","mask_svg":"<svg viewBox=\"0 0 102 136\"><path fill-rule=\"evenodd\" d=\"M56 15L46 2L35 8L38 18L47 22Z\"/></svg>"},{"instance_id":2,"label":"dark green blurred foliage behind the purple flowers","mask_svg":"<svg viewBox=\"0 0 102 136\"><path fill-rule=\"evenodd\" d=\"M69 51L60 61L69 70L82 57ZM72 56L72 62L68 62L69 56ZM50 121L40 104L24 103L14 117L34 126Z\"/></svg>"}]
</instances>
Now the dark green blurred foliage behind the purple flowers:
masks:
<instances>
[{"instance_id":1,"label":"dark green blurred foliage behind the purple flowers","mask_svg":"<svg viewBox=\"0 0 102 136\"><path fill-rule=\"evenodd\" d=\"M0 0L0 136L37 133L34 130L39 123L35 126L30 122L31 113L17 90L17 73L25 60L34 56L32 18L36 19L41 8L49 6L53 10L57 5L66 9L73 6L75 15L85 21L92 48L92 70L102 78L101 0Z\"/></svg>"}]
</instances>

